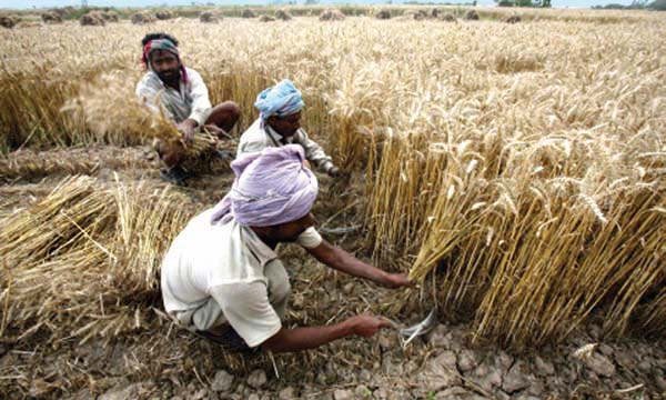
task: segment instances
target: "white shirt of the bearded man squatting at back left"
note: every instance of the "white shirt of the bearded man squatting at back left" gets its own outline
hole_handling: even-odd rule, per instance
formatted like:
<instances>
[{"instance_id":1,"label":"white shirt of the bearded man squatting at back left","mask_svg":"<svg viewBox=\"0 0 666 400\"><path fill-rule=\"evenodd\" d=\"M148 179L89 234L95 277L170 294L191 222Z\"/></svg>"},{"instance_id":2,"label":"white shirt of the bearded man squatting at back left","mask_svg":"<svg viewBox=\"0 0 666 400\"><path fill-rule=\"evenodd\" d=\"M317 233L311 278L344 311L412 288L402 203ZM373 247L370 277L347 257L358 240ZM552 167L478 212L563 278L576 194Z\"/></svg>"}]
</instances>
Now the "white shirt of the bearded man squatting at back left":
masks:
<instances>
[{"instance_id":1,"label":"white shirt of the bearded man squatting at back left","mask_svg":"<svg viewBox=\"0 0 666 400\"><path fill-rule=\"evenodd\" d=\"M153 111L159 112L160 106L165 117L180 123L189 118L201 127L211 109L208 88L199 72L185 68L188 83L180 80L179 90L165 86L153 71L147 72L137 84L137 96L144 100Z\"/></svg>"}]
</instances>

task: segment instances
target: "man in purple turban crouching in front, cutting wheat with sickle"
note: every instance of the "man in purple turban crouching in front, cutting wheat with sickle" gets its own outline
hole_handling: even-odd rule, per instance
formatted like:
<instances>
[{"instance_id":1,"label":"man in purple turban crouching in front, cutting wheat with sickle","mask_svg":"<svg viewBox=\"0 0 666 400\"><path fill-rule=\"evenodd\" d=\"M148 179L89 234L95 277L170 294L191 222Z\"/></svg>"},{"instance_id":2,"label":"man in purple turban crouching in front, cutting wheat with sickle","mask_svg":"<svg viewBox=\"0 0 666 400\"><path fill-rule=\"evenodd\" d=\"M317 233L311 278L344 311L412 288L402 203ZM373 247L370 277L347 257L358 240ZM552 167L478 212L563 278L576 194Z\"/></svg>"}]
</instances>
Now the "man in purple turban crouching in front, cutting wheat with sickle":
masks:
<instances>
[{"instance_id":1,"label":"man in purple turban crouching in front, cutting wheat with sickle","mask_svg":"<svg viewBox=\"0 0 666 400\"><path fill-rule=\"evenodd\" d=\"M385 320L371 314L325 327L282 326L291 286L275 254L294 242L319 261L389 288L410 282L339 249L314 230L317 181L303 148L269 148L232 162L235 180L215 207L194 217L164 257L164 308L180 324L229 347L311 349L351 334L371 337Z\"/></svg>"}]
</instances>

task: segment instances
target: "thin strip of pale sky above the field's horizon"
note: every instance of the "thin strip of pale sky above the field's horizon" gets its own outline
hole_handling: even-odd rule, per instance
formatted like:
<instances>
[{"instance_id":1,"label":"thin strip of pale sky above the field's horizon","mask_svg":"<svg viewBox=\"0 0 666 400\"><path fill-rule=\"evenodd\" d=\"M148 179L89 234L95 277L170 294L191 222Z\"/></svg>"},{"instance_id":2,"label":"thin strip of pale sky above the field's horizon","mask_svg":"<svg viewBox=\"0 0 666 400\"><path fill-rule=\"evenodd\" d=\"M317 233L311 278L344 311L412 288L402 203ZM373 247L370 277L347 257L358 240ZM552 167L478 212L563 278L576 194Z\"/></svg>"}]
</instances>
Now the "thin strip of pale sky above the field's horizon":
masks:
<instances>
[{"instance_id":1,"label":"thin strip of pale sky above the field's horizon","mask_svg":"<svg viewBox=\"0 0 666 400\"><path fill-rule=\"evenodd\" d=\"M280 0L88 0L88 6L95 7L161 7L161 6L190 6L192 2L196 4L214 3L220 6L262 6L275 3ZM286 0L282 0L286 3ZM428 2L471 2L472 0L422 0ZM296 0L299 4L304 3L304 0ZM376 4L386 3L387 0L320 0L320 3L357 3L357 4ZM403 0L394 0L393 3L402 3ZM552 0L553 7L568 7L568 8L588 8L592 6L604 6L607 3L618 3L628 6L630 0ZM495 6L493 0L477 0L480 6ZM49 7L64 7L64 6L81 6L81 0L0 0L0 9L30 9L30 8L49 8Z\"/></svg>"}]
</instances>

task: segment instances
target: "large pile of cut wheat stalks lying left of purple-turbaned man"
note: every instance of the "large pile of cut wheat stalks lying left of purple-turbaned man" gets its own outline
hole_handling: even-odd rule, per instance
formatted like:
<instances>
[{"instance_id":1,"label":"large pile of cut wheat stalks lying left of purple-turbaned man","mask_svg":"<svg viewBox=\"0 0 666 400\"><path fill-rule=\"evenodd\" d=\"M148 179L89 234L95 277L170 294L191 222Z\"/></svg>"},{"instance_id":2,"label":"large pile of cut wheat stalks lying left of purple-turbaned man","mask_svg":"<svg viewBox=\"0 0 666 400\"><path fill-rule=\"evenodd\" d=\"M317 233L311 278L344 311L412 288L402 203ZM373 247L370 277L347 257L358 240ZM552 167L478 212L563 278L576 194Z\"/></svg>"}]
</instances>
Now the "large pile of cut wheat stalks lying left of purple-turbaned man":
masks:
<instances>
[{"instance_id":1,"label":"large pile of cut wheat stalks lying left of purple-turbaned man","mask_svg":"<svg viewBox=\"0 0 666 400\"><path fill-rule=\"evenodd\" d=\"M2 220L0 337L85 341L140 328L159 296L162 253L192 216L188 203L147 183L74 177Z\"/></svg>"}]
</instances>

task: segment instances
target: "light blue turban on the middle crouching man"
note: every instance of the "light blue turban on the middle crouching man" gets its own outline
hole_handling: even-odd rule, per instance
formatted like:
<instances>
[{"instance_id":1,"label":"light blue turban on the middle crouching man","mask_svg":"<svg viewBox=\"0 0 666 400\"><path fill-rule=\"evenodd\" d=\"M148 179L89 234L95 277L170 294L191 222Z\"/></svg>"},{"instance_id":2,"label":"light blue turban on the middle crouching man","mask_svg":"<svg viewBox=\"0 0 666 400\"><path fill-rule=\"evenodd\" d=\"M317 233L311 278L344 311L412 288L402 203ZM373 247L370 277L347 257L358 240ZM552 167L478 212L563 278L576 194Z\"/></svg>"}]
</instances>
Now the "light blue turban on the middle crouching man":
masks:
<instances>
[{"instance_id":1,"label":"light blue turban on the middle crouching man","mask_svg":"<svg viewBox=\"0 0 666 400\"><path fill-rule=\"evenodd\" d=\"M291 116L299 112L304 106L301 92L289 79L259 93L254 102L254 107L261 112L264 121L271 116Z\"/></svg>"}]
</instances>

